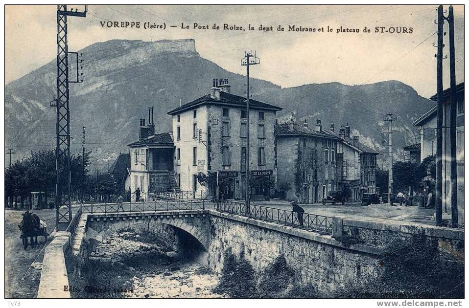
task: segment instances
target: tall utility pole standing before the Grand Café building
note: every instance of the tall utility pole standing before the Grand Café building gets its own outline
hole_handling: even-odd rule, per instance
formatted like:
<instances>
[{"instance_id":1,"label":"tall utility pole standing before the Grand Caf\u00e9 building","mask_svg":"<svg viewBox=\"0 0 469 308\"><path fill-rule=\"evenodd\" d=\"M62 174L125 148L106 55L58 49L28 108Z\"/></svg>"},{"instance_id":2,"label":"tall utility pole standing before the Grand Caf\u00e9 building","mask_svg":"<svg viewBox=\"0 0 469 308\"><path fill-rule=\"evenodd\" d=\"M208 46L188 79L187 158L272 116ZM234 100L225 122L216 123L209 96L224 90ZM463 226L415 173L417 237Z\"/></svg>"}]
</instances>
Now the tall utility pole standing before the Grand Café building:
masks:
<instances>
[{"instance_id":1,"label":"tall utility pole standing before the Grand Caf\u00e9 building","mask_svg":"<svg viewBox=\"0 0 469 308\"><path fill-rule=\"evenodd\" d=\"M251 139L251 134L249 132L249 66L251 65L258 65L260 64L260 59L256 57L256 54L253 55L253 52L247 52L244 55L244 58L241 60L241 66L246 66L246 203L245 203L245 212L247 214L251 213L250 209L250 185L249 185L249 179L251 177L250 175L250 139Z\"/></svg>"}]
</instances>

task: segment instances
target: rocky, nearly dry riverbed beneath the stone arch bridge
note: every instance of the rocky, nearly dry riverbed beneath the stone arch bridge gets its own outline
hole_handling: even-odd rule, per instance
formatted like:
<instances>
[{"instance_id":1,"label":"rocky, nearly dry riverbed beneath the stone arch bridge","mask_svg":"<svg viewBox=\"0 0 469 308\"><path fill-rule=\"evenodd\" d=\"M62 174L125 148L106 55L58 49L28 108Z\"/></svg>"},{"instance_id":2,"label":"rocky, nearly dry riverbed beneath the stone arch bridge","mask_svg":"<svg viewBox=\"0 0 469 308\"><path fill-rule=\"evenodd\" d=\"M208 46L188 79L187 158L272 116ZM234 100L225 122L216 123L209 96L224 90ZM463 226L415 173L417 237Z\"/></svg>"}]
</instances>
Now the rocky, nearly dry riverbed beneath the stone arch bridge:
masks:
<instances>
[{"instance_id":1,"label":"rocky, nearly dry riverbed beneath the stone arch bridge","mask_svg":"<svg viewBox=\"0 0 469 308\"><path fill-rule=\"evenodd\" d=\"M78 298L226 298L219 274L133 230L101 242L76 281Z\"/></svg>"}]
</instances>

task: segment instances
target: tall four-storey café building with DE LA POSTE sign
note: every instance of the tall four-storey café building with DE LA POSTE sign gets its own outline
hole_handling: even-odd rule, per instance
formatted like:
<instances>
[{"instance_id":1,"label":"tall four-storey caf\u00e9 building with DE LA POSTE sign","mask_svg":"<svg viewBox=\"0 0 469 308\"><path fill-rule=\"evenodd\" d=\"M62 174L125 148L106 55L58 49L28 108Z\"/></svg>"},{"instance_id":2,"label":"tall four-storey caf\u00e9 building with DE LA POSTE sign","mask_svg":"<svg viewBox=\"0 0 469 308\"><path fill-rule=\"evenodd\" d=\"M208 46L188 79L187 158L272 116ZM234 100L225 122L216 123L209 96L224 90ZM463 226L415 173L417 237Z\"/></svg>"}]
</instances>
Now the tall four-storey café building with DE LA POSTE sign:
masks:
<instances>
[{"instance_id":1,"label":"tall four-storey caf\u00e9 building with DE LA POSTE sign","mask_svg":"<svg viewBox=\"0 0 469 308\"><path fill-rule=\"evenodd\" d=\"M281 108L250 100L250 170L275 183L274 123ZM214 79L210 94L168 112L174 134L174 170L182 191L213 190L218 198L245 198L246 98L231 93L228 79ZM201 186L199 173L212 174L218 188ZM255 187L252 196L269 196Z\"/></svg>"}]
</instances>

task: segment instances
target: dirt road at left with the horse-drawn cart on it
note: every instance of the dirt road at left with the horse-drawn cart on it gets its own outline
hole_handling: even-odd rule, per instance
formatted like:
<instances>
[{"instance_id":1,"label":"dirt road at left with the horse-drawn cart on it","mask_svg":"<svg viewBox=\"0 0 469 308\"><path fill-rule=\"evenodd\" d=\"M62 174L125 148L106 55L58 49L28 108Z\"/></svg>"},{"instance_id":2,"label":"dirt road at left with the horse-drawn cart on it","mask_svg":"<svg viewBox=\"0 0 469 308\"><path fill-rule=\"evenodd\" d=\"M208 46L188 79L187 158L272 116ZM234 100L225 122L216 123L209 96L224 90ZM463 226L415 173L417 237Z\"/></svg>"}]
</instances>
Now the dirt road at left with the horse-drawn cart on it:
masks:
<instances>
[{"instance_id":1,"label":"dirt road at left with the horse-drawn cart on it","mask_svg":"<svg viewBox=\"0 0 469 308\"><path fill-rule=\"evenodd\" d=\"M39 288L41 271L30 266L34 261L42 263L44 237L38 237L38 246L28 246L24 250L18 229L23 219L22 213L24 211L5 210L5 298L35 298ZM46 222L47 232L52 232L55 227L55 210L33 213Z\"/></svg>"}]
</instances>

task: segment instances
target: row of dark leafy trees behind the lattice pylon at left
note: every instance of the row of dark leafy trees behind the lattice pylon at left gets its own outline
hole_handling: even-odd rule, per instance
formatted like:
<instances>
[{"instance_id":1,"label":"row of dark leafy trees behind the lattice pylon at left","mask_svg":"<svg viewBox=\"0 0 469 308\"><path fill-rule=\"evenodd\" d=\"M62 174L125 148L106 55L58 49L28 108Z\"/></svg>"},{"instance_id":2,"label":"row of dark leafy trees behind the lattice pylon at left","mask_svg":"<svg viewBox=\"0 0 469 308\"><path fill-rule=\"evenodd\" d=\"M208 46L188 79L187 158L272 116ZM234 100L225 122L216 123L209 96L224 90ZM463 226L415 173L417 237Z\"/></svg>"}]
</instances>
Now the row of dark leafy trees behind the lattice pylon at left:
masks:
<instances>
[{"instance_id":1,"label":"row of dark leafy trees behind the lattice pylon at left","mask_svg":"<svg viewBox=\"0 0 469 308\"><path fill-rule=\"evenodd\" d=\"M66 157L62 157L64 162ZM84 167L81 154L72 154L70 157L71 195L100 194L110 195L118 193L116 180L109 174L90 175L87 167L90 164L91 152L85 153ZM64 166L65 164L61 164ZM56 183L56 157L55 150L41 150L31 152L30 156L15 161L5 170L5 196L8 204L13 205L17 198L23 206L24 199L31 197L31 192L55 193ZM67 174L60 173L59 185L67 193Z\"/></svg>"}]
</instances>

